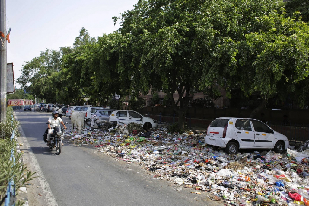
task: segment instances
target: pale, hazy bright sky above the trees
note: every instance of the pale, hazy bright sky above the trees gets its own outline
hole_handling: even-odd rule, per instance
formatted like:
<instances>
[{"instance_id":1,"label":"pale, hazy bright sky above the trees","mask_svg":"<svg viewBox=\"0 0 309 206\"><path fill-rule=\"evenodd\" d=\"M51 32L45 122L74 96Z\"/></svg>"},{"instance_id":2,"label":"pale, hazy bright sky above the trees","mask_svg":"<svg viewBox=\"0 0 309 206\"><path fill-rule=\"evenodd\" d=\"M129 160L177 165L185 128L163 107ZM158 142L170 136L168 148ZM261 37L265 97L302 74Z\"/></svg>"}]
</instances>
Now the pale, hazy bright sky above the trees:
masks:
<instances>
[{"instance_id":1,"label":"pale, hazy bright sky above the trees","mask_svg":"<svg viewBox=\"0 0 309 206\"><path fill-rule=\"evenodd\" d=\"M13 62L15 87L22 65L41 51L73 46L82 27L91 37L116 31L113 16L130 11L138 0L6 0L6 62Z\"/></svg>"}]
</instances>

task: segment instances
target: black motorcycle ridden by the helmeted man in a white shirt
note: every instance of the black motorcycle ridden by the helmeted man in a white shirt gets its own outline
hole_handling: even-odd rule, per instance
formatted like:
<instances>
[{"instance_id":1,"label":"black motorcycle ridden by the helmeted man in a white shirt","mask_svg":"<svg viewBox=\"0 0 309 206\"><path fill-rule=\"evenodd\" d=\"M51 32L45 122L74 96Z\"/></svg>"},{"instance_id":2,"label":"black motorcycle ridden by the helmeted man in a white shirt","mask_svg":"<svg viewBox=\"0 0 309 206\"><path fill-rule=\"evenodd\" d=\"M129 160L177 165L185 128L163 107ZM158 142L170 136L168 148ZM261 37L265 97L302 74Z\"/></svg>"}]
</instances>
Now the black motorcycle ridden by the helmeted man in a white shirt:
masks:
<instances>
[{"instance_id":1,"label":"black motorcycle ridden by the helmeted man in a white shirt","mask_svg":"<svg viewBox=\"0 0 309 206\"><path fill-rule=\"evenodd\" d=\"M47 122L46 124L50 125L50 122ZM68 124L68 122L64 123L64 124ZM63 141L63 135L65 133L64 129L61 126L56 126L53 127L53 125L51 125L51 129L53 130L50 138L49 138L49 149L53 149L56 147L56 153L60 154L61 153L61 147L62 147L62 141ZM44 141L47 142L47 133L48 133L48 128L45 131L44 136Z\"/></svg>"}]
</instances>

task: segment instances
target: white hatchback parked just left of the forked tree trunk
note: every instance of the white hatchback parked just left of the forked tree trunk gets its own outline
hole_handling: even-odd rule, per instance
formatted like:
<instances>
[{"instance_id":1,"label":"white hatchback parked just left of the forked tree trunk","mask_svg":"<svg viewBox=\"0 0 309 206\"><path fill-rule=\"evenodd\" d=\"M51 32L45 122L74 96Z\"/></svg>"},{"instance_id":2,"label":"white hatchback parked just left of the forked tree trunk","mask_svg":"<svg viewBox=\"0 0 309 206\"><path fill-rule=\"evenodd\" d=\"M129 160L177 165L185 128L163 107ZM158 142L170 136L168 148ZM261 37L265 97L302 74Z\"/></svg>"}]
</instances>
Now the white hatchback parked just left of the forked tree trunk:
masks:
<instances>
[{"instance_id":1,"label":"white hatchback parked just left of the forked tree trunk","mask_svg":"<svg viewBox=\"0 0 309 206\"><path fill-rule=\"evenodd\" d=\"M128 125L131 122L135 122L138 124L142 124L142 127L145 130L148 130L149 128L158 127L158 123L156 120L149 117L145 117L144 115L133 110L115 110L109 116L108 121L109 122L117 121L117 123L120 125L124 124Z\"/></svg>"}]
</instances>

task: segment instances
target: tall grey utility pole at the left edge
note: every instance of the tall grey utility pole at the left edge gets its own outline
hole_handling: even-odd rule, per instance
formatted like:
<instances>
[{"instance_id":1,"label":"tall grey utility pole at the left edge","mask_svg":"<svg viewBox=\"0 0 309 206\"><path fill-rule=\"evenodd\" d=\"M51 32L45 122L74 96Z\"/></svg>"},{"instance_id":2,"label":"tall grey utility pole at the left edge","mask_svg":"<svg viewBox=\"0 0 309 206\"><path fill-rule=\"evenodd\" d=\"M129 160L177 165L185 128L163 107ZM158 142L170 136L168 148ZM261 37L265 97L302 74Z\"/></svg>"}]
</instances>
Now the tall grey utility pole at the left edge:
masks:
<instances>
[{"instance_id":1,"label":"tall grey utility pole at the left edge","mask_svg":"<svg viewBox=\"0 0 309 206\"><path fill-rule=\"evenodd\" d=\"M6 0L0 0L0 31L6 34ZM1 37L0 37L1 38ZM1 122L6 119L6 41L0 45Z\"/></svg>"}]
</instances>

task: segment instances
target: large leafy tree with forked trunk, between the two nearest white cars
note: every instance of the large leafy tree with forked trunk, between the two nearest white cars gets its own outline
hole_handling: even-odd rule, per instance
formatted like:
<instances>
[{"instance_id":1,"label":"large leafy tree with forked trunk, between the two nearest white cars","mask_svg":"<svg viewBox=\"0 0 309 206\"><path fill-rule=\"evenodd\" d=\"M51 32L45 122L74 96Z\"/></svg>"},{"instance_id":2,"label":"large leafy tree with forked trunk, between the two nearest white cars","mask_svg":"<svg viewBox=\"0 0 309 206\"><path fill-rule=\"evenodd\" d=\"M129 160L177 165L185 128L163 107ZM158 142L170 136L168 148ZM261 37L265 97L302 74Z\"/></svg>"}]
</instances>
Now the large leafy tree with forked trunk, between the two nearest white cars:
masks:
<instances>
[{"instance_id":1,"label":"large leafy tree with forked trunk, between the two nearest white cars","mask_svg":"<svg viewBox=\"0 0 309 206\"><path fill-rule=\"evenodd\" d=\"M122 14L122 27L118 30L125 40L117 48L122 57L117 68L131 78L130 91L146 94L150 86L154 91L163 88L172 100L181 128L188 97L197 91L202 74L193 61L192 45L203 3L202 0L142 0L132 11ZM175 91L179 95L176 103Z\"/></svg>"}]
</instances>

